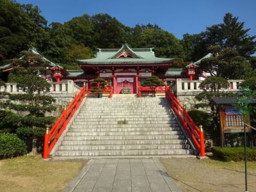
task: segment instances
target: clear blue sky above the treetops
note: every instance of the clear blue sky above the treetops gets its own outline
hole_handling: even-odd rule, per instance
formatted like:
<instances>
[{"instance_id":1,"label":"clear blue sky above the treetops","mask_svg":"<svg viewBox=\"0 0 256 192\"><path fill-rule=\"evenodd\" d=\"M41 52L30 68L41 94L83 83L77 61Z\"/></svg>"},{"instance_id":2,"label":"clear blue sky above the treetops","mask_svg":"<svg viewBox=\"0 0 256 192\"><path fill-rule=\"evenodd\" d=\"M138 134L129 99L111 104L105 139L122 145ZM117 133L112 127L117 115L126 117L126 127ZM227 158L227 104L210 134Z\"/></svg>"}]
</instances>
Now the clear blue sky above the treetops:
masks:
<instances>
[{"instance_id":1,"label":"clear blue sky above the treetops","mask_svg":"<svg viewBox=\"0 0 256 192\"><path fill-rule=\"evenodd\" d=\"M156 23L162 29L182 38L185 33L197 34L207 26L222 22L230 12L251 28L256 35L256 0L17 0L38 5L50 22L65 22L82 14L108 13L126 26Z\"/></svg>"}]
</instances>

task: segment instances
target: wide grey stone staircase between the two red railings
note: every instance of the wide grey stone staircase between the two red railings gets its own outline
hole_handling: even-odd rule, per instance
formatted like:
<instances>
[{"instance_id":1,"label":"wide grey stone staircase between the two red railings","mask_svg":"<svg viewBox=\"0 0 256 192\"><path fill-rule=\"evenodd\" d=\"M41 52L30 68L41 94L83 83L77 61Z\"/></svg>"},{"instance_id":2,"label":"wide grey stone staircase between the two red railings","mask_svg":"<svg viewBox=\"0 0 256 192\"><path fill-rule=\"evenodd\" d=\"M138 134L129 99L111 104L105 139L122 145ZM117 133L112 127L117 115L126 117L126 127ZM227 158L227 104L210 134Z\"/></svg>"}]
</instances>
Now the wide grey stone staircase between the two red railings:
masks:
<instances>
[{"instance_id":1,"label":"wide grey stone staircase between the two red railings","mask_svg":"<svg viewBox=\"0 0 256 192\"><path fill-rule=\"evenodd\" d=\"M54 158L193 154L165 98L86 99Z\"/></svg>"}]
</instances>

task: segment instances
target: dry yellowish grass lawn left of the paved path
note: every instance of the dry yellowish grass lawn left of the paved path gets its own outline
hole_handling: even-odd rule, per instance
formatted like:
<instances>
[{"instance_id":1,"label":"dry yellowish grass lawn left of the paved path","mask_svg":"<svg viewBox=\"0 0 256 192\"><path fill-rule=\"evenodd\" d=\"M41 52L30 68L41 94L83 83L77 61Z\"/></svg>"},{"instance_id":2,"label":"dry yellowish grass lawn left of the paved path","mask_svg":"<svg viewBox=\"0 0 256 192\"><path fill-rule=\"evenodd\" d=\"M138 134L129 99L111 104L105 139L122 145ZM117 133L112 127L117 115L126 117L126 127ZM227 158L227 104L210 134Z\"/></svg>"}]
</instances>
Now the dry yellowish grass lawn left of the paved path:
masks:
<instances>
[{"instance_id":1,"label":"dry yellowish grass lawn left of the paved path","mask_svg":"<svg viewBox=\"0 0 256 192\"><path fill-rule=\"evenodd\" d=\"M44 161L41 156L15 157L0 161L2 192L61 191L86 161Z\"/></svg>"}]
</instances>

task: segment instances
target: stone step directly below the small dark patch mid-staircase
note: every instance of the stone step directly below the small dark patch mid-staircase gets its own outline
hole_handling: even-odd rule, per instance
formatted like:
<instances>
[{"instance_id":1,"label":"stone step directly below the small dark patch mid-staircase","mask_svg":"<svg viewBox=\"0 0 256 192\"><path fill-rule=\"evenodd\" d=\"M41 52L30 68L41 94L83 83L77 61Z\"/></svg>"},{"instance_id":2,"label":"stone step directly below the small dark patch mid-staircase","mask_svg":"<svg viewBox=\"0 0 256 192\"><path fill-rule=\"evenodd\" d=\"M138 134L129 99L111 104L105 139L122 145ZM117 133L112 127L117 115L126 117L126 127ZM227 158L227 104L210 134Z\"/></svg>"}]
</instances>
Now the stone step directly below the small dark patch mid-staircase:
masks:
<instances>
[{"instance_id":1,"label":"stone step directly below the small dark patch mid-staircase","mask_svg":"<svg viewBox=\"0 0 256 192\"><path fill-rule=\"evenodd\" d=\"M179 127L178 123L162 124L93 124L93 125L71 125L71 128L131 128L131 127Z\"/></svg>"}]
</instances>

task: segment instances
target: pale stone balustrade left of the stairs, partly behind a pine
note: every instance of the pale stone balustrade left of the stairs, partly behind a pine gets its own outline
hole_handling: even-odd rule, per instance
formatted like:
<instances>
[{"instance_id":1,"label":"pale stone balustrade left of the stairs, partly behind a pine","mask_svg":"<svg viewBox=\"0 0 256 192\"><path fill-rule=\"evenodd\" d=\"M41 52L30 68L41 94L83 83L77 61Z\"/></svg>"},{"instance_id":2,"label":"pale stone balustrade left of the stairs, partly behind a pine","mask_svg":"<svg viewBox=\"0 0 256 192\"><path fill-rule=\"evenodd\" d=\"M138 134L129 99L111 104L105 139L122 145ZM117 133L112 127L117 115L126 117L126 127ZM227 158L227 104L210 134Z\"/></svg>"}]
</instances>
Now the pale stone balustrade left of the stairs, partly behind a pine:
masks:
<instances>
[{"instance_id":1,"label":"pale stone balustrade left of the stairs, partly behind a pine","mask_svg":"<svg viewBox=\"0 0 256 192\"><path fill-rule=\"evenodd\" d=\"M76 92L79 92L81 87L76 85L73 80L62 80L60 82L50 82L50 92L48 93L68 93L68 94L74 94ZM0 87L0 92L7 92L7 93L24 93L23 90L18 89L17 83L5 83L4 86Z\"/></svg>"}]
</instances>

